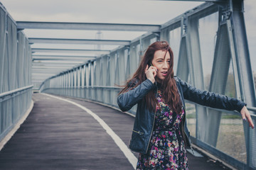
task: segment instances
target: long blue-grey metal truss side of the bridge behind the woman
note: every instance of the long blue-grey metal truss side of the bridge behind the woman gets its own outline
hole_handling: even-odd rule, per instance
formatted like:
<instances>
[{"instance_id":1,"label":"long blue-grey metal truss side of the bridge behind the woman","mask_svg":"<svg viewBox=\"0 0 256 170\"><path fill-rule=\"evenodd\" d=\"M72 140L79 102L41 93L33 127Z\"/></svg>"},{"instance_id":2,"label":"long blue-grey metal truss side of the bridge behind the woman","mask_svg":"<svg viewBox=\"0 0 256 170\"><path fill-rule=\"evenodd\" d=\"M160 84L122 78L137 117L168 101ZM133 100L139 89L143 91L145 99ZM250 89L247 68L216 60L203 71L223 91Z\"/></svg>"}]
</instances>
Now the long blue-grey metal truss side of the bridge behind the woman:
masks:
<instances>
[{"instance_id":1,"label":"long blue-grey metal truss side of the bridge behind the woman","mask_svg":"<svg viewBox=\"0 0 256 170\"><path fill-rule=\"evenodd\" d=\"M240 3L197 6L162 24L157 33L146 33L108 55L50 77L40 91L117 107L119 88L114 84L124 84L135 72L151 42L167 40L174 50L174 72L178 77L198 89L233 96L255 106L255 84ZM256 168L255 130L248 128L239 113L187 105L188 125L196 145L239 169ZM249 109L255 114L255 108ZM130 113L135 111L136 107ZM254 115L252 119L255 123Z\"/></svg>"}]
</instances>

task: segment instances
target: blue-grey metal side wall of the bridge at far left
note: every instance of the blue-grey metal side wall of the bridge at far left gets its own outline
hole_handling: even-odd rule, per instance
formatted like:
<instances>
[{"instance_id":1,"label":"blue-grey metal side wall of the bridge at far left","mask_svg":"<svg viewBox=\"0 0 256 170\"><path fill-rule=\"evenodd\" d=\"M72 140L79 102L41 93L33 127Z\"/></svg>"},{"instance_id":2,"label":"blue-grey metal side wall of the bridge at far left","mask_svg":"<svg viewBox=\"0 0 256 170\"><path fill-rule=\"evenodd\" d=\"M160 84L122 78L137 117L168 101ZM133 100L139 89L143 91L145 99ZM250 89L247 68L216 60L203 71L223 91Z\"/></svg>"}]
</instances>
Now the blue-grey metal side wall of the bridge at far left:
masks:
<instances>
[{"instance_id":1,"label":"blue-grey metal side wall of the bridge at far left","mask_svg":"<svg viewBox=\"0 0 256 170\"><path fill-rule=\"evenodd\" d=\"M31 106L31 62L28 39L0 3L0 141Z\"/></svg>"}]
</instances>

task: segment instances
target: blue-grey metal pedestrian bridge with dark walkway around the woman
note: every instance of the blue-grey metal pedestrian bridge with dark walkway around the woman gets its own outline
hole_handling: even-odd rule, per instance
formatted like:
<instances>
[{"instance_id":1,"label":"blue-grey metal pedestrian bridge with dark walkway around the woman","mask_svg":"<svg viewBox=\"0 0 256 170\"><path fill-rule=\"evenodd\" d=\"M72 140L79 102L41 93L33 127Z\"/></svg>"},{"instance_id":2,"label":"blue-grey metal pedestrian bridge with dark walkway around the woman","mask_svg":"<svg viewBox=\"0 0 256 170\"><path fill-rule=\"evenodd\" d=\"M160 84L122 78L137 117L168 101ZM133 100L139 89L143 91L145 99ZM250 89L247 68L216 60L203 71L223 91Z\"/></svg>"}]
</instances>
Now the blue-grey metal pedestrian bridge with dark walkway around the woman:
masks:
<instances>
[{"instance_id":1,"label":"blue-grey metal pedestrian bridge with dark walkway around the woman","mask_svg":"<svg viewBox=\"0 0 256 170\"><path fill-rule=\"evenodd\" d=\"M161 25L14 21L0 4L0 169L134 169L138 154L128 145L136 106L122 113L117 94L156 40L174 50L178 77L245 101L256 124L246 3L206 1ZM133 40L32 38L27 29L143 34ZM256 169L256 131L240 113L189 101L186 108L196 151L188 150L189 169Z\"/></svg>"}]
</instances>

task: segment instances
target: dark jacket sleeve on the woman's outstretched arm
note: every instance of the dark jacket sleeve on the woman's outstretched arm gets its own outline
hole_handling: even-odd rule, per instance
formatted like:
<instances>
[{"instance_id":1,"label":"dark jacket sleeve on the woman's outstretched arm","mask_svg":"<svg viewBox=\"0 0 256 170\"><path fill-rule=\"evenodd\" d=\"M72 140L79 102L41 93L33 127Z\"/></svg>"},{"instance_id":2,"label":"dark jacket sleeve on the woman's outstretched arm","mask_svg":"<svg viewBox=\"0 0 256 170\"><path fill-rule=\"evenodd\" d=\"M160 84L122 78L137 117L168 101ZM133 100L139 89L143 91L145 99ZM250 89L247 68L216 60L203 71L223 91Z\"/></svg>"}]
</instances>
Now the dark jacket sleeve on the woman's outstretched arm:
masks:
<instances>
[{"instance_id":1,"label":"dark jacket sleeve on the woman's outstretched arm","mask_svg":"<svg viewBox=\"0 0 256 170\"><path fill-rule=\"evenodd\" d=\"M194 103L211 108L220 108L228 111L235 110L238 112L242 110L243 106L246 106L246 103L238 100L237 98L230 98L221 94L196 89L179 78L178 81L181 84L183 96L188 101L193 101Z\"/></svg>"}]
</instances>

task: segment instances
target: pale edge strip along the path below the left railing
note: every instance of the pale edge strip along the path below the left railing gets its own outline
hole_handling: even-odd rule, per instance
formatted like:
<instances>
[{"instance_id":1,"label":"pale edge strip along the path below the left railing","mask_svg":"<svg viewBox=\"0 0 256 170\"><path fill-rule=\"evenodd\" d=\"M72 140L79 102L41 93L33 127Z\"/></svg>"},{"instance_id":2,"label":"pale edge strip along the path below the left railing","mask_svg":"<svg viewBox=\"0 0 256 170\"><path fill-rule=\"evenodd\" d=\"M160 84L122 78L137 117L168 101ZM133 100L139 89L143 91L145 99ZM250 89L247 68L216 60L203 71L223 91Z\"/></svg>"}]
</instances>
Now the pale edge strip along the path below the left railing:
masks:
<instances>
[{"instance_id":1,"label":"pale edge strip along the path below the left railing","mask_svg":"<svg viewBox=\"0 0 256 170\"><path fill-rule=\"evenodd\" d=\"M31 101L31 106L29 106L28 111L22 116L20 120L18 120L18 123L14 126L14 128L4 137L3 140L0 142L0 151L3 149L4 145L11 139L11 137L14 135L14 133L20 128L21 124L26 120L28 117L29 113L31 113L32 108L33 108L33 101Z\"/></svg>"}]
</instances>

